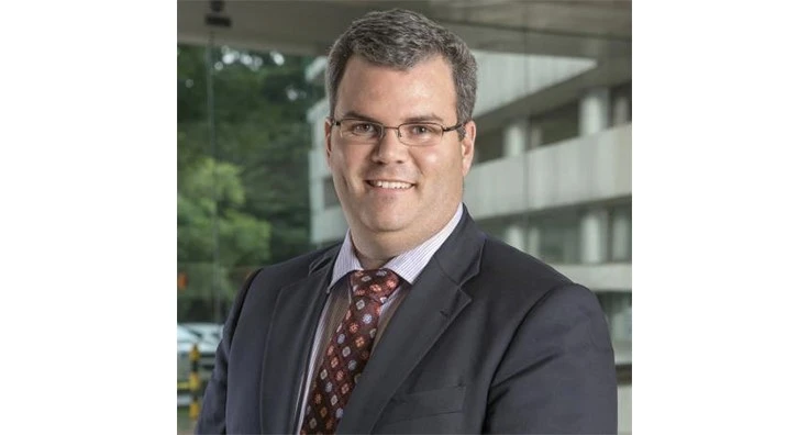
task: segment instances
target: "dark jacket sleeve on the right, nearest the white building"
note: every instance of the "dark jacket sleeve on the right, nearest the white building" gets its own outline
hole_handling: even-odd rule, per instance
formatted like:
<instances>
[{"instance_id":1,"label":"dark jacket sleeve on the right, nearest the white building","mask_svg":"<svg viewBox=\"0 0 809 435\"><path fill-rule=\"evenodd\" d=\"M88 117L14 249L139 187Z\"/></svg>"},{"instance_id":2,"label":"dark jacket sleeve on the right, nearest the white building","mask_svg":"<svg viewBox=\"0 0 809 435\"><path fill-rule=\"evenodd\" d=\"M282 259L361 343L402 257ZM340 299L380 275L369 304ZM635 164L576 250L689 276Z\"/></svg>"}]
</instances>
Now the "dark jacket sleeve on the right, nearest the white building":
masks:
<instances>
[{"instance_id":1,"label":"dark jacket sleeve on the right, nearest the white building","mask_svg":"<svg viewBox=\"0 0 809 435\"><path fill-rule=\"evenodd\" d=\"M514 333L489 390L484 431L614 434L616 365L598 299L578 285L551 290Z\"/></svg>"}]
</instances>

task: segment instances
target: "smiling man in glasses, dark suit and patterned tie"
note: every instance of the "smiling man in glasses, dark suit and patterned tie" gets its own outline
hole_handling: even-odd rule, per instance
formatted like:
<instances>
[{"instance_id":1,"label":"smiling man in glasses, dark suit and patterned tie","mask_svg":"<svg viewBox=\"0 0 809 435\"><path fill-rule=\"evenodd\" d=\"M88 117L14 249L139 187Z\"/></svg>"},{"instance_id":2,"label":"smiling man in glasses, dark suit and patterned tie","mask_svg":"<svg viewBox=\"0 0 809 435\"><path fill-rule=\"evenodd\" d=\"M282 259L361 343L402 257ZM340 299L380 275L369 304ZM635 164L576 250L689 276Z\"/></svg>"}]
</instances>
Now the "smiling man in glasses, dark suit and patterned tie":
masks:
<instances>
[{"instance_id":1,"label":"smiling man in glasses, dark suit and patterned tie","mask_svg":"<svg viewBox=\"0 0 809 435\"><path fill-rule=\"evenodd\" d=\"M325 155L350 230L247 279L199 433L617 431L595 295L462 203L476 74L465 43L417 13L340 36Z\"/></svg>"}]
</instances>

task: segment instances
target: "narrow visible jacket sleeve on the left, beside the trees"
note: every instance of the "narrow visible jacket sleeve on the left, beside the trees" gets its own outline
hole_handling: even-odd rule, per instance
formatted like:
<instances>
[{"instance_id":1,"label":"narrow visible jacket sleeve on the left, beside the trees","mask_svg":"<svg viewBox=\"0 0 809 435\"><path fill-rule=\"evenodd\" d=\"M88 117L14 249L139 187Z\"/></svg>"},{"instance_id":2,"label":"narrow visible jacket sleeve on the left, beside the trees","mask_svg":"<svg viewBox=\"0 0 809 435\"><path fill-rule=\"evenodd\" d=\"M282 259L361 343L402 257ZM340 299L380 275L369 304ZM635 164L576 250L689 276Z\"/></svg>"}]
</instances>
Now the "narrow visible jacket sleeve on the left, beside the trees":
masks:
<instances>
[{"instance_id":1,"label":"narrow visible jacket sleeve on the left, beside the trees","mask_svg":"<svg viewBox=\"0 0 809 435\"><path fill-rule=\"evenodd\" d=\"M206 387L202 398L202 409L195 426L197 434L226 434L225 425L225 408L228 403L228 360L230 356L231 343L233 342L233 333L236 330L239 315L242 312L247 290L253 283L253 279L262 269L255 270L245 280L239 294L236 295L233 306L231 308L228 320L225 320L222 328L222 341L217 347L217 359L213 366L213 372Z\"/></svg>"}]
</instances>

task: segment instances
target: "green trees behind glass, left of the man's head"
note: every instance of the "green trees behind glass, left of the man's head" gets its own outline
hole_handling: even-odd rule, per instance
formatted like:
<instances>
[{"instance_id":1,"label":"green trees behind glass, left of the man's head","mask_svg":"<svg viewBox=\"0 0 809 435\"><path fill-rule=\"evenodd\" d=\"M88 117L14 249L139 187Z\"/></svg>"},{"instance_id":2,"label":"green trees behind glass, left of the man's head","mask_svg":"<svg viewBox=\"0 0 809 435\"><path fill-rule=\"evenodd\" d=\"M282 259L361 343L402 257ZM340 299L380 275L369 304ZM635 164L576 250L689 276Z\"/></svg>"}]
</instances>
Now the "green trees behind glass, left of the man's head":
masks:
<instances>
[{"instance_id":1,"label":"green trees behind glass, left of the man's head","mask_svg":"<svg viewBox=\"0 0 809 435\"><path fill-rule=\"evenodd\" d=\"M306 113L322 90L304 80L309 59L229 47L212 55L215 152L207 48L180 45L177 52L178 264L199 265L193 275L209 277L189 274L182 297L215 294L214 178L207 176L214 169L221 267L215 275L229 278L220 288L230 294L258 265L310 247ZM200 280L210 286L191 289Z\"/></svg>"}]
</instances>

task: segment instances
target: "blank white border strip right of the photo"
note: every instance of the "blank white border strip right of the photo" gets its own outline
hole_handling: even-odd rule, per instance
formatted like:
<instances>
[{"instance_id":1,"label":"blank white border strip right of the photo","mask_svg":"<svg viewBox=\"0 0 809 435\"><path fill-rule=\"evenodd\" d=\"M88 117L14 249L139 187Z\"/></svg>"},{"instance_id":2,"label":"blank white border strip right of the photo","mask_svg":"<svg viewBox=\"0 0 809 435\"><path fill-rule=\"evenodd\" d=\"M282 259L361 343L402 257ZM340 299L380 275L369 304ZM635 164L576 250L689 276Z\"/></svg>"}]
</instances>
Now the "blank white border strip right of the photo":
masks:
<instances>
[{"instance_id":1,"label":"blank white border strip right of the photo","mask_svg":"<svg viewBox=\"0 0 809 435\"><path fill-rule=\"evenodd\" d=\"M777 3L633 2L638 434L806 431L809 35Z\"/></svg>"}]
</instances>

